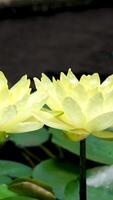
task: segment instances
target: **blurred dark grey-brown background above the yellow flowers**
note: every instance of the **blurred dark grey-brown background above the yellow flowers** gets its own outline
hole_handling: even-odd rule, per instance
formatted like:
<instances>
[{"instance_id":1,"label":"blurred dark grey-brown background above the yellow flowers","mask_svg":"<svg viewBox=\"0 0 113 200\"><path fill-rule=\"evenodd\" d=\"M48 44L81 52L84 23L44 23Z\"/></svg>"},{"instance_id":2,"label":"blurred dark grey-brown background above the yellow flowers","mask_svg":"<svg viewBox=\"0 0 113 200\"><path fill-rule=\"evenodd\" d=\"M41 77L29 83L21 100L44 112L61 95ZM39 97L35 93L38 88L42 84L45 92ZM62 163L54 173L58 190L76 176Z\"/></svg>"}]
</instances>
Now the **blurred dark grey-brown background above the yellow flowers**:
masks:
<instances>
[{"instance_id":1,"label":"blurred dark grey-brown background above the yellow flowers","mask_svg":"<svg viewBox=\"0 0 113 200\"><path fill-rule=\"evenodd\" d=\"M0 70L10 82L68 68L113 73L113 1L0 0Z\"/></svg>"}]
</instances>

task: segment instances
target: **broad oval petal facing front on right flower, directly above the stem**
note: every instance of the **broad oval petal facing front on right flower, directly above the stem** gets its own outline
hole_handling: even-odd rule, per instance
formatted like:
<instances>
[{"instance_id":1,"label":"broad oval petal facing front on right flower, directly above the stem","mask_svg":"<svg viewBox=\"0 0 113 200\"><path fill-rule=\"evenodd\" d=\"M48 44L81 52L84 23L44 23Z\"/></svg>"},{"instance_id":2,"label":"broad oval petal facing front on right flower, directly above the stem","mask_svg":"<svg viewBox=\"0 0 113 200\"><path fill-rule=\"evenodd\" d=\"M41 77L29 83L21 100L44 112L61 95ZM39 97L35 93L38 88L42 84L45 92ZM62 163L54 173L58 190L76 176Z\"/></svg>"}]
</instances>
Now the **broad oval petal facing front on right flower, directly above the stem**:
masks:
<instances>
[{"instance_id":1,"label":"broad oval petal facing front on right flower, directly above the stem","mask_svg":"<svg viewBox=\"0 0 113 200\"><path fill-rule=\"evenodd\" d=\"M71 97L67 97L64 99L62 106L64 114L67 116L71 124L73 124L76 128L84 127L85 117L80 106L75 100Z\"/></svg>"}]
</instances>

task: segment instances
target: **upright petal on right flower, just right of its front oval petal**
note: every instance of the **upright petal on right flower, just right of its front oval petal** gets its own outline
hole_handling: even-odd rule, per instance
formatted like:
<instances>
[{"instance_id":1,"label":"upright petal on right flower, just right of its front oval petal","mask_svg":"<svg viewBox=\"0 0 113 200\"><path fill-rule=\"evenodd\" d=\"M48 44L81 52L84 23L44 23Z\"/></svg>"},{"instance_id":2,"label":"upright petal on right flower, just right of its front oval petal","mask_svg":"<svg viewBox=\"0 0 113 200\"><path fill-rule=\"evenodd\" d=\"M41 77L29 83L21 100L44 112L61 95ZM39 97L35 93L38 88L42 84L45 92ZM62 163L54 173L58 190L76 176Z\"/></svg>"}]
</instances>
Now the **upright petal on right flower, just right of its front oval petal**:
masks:
<instances>
[{"instance_id":1,"label":"upright petal on right flower, just right of its front oval petal","mask_svg":"<svg viewBox=\"0 0 113 200\"><path fill-rule=\"evenodd\" d=\"M103 96L101 93L96 93L88 101L87 108L85 110L87 119L95 118L103 112Z\"/></svg>"}]
</instances>

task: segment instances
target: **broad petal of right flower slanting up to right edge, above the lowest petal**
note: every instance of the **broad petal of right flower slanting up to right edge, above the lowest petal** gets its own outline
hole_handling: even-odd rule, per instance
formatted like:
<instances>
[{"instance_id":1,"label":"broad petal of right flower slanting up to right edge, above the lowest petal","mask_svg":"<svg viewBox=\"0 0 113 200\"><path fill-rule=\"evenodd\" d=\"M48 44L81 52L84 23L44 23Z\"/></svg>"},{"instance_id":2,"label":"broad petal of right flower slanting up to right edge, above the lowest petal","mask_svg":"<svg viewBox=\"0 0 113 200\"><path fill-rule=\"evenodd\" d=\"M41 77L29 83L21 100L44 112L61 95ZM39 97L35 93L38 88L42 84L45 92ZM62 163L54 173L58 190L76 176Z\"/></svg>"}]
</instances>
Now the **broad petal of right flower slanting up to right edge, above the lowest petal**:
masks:
<instances>
[{"instance_id":1,"label":"broad petal of right flower slanting up to right edge, above the lowest petal","mask_svg":"<svg viewBox=\"0 0 113 200\"><path fill-rule=\"evenodd\" d=\"M97 116L88 122L87 127L91 132L102 131L110 128L113 124L113 112L108 112Z\"/></svg>"}]
</instances>

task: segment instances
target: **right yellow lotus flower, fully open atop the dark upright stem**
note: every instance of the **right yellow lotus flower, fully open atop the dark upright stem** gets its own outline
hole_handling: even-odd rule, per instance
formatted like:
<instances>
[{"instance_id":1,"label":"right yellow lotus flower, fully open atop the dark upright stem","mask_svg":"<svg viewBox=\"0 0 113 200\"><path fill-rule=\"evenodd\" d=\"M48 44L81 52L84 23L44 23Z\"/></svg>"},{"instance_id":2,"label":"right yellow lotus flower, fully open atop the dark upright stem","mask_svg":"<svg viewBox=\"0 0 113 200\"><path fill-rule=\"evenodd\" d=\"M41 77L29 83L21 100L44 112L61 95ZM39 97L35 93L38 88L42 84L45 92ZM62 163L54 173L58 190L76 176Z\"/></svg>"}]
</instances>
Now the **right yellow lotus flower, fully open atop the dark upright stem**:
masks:
<instances>
[{"instance_id":1,"label":"right yellow lotus flower, fully open atop the dark upright stem","mask_svg":"<svg viewBox=\"0 0 113 200\"><path fill-rule=\"evenodd\" d=\"M78 80L69 69L67 75L61 72L60 80L42 74L41 81L34 81L37 91L49 96L48 108L34 113L38 120L63 130L74 141L89 134L113 138L113 75L101 84L97 73Z\"/></svg>"}]
</instances>

